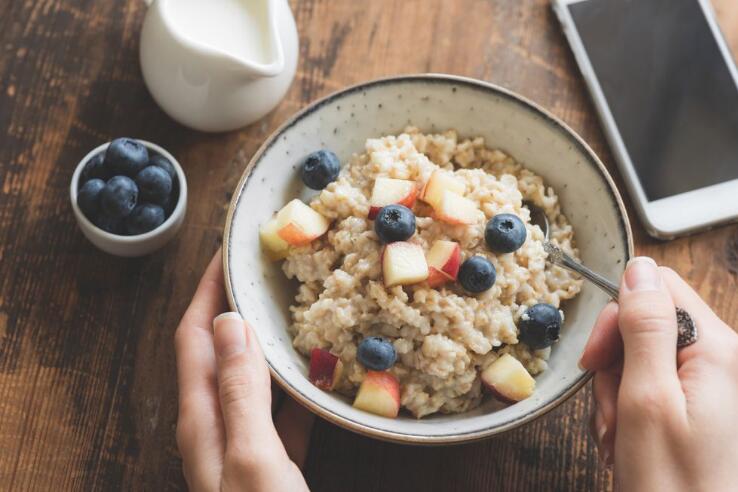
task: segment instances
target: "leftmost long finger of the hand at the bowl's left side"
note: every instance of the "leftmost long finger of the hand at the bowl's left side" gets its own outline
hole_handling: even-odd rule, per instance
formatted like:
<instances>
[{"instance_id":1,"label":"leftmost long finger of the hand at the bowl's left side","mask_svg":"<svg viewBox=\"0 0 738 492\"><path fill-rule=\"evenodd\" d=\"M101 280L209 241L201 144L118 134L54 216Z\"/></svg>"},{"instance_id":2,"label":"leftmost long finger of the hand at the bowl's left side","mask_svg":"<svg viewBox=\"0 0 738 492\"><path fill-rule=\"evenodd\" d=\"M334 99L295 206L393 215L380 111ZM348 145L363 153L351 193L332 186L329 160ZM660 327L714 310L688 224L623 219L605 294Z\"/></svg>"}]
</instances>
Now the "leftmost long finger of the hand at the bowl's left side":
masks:
<instances>
[{"instance_id":1,"label":"leftmost long finger of the hand at the bowl's left side","mask_svg":"<svg viewBox=\"0 0 738 492\"><path fill-rule=\"evenodd\" d=\"M215 490L221 474L224 431L209 329L224 303L220 252L205 271L175 334L179 415L177 445L193 490Z\"/></svg>"}]
</instances>

